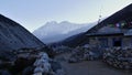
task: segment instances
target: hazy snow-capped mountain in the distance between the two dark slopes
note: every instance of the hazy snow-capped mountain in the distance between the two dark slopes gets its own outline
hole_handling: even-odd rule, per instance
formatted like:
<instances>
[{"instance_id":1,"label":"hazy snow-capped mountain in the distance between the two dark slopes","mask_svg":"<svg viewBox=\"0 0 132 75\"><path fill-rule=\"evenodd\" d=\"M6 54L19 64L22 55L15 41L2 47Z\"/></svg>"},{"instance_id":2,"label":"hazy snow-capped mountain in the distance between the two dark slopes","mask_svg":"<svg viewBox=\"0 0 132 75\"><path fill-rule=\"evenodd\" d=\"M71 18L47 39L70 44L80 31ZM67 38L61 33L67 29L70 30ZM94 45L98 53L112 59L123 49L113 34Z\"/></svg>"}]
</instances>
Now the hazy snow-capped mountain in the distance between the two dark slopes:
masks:
<instances>
[{"instance_id":1,"label":"hazy snow-capped mountain in the distance between the two dark slopes","mask_svg":"<svg viewBox=\"0 0 132 75\"><path fill-rule=\"evenodd\" d=\"M44 43L53 43L65 40L72 35L86 32L96 23L76 24L67 21L57 23L55 21L47 22L45 25L38 28L33 32Z\"/></svg>"}]
</instances>

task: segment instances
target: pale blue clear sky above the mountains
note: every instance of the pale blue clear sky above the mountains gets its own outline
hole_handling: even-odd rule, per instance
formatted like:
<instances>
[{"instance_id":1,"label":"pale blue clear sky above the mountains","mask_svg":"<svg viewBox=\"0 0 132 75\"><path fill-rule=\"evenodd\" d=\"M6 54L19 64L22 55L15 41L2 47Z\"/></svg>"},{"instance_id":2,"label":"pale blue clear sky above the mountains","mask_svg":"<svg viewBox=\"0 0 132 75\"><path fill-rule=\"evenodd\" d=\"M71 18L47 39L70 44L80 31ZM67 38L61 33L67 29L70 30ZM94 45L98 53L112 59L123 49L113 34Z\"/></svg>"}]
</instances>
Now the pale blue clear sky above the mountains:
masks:
<instances>
[{"instance_id":1,"label":"pale blue clear sky above the mountains","mask_svg":"<svg viewBox=\"0 0 132 75\"><path fill-rule=\"evenodd\" d=\"M132 0L0 0L0 13L32 32L51 21L94 22L130 3Z\"/></svg>"}]
</instances>

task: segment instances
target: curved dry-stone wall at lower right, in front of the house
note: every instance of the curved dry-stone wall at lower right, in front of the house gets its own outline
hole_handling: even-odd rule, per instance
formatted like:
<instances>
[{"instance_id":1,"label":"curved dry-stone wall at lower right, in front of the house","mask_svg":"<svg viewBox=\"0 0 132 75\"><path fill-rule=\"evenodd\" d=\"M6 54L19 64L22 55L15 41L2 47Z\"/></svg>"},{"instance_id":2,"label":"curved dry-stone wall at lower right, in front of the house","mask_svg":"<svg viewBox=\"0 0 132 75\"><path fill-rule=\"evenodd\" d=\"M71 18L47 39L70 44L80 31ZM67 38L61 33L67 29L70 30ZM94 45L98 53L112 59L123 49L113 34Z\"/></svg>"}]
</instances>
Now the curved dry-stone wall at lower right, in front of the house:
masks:
<instances>
[{"instance_id":1,"label":"curved dry-stone wall at lower right, in front of the house","mask_svg":"<svg viewBox=\"0 0 132 75\"><path fill-rule=\"evenodd\" d=\"M117 68L132 68L132 49L107 49L103 53L103 61Z\"/></svg>"}]
</instances>

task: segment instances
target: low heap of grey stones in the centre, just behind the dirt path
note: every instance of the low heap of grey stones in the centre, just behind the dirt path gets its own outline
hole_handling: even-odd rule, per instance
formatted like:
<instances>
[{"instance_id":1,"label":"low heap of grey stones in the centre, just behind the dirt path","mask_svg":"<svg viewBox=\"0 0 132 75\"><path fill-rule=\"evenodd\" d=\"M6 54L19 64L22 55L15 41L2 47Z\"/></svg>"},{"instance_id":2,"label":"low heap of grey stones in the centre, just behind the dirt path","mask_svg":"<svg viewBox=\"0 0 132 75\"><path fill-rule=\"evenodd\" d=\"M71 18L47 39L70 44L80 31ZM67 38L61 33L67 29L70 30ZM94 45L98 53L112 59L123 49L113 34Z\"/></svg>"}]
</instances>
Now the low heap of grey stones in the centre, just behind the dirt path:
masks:
<instances>
[{"instance_id":1,"label":"low heap of grey stones in the centre, just behind the dirt path","mask_svg":"<svg viewBox=\"0 0 132 75\"><path fill-rule=\"evenodd\" d=\"M98 58L96 53L90 51L88 47L78 46L72 52L72 56L69 58L69 63L76 63L81 61L94 61Z\"/></svg>"}]
</instances>

